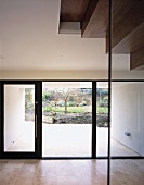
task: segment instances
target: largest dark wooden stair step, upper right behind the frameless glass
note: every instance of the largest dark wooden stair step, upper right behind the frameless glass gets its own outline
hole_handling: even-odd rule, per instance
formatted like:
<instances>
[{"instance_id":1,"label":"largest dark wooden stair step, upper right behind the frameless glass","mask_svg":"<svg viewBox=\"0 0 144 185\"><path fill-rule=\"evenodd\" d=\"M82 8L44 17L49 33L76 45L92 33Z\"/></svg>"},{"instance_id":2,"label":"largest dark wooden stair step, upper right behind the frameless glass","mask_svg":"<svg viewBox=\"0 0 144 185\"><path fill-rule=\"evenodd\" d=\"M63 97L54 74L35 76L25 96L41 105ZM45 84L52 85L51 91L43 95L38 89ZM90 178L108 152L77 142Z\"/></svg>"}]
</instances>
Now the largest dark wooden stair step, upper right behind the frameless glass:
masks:
<instances>
[{"instance_id":1,"label":"largest dark wooden stair step, upper right behind the frameless glass","mask_svg":"<svg viewBox=\"0 0 144 185\"><path fill-rule=\"evenodd\" d=\"M144 40L144 1L114 0L113 5L113 53L134 52Z\"/></svg>"}]
</instances>

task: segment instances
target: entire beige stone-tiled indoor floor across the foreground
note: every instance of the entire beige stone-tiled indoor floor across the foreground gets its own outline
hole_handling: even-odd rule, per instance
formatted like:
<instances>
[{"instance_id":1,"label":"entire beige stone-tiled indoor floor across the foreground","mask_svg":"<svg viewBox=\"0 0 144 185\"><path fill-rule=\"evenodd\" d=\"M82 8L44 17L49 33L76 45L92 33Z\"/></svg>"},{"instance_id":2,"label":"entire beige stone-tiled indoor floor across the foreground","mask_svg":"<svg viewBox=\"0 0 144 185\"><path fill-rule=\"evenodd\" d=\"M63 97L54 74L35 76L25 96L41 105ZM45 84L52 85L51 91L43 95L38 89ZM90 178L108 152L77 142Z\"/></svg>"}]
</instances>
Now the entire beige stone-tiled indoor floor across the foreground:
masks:
<instances>
[{"instance_id":1,"label":"entire beige stone-tiled indoor floor across the foreground","mask_svg":"<svg viewBox=\"0 0 144 185\"><path fill-rule=\"evenodd\" d=\"M112 185L144 185L144 160L112 160ZM0 160L0 185L106 185L106 160Z\"/></svg>"}]
</instances>

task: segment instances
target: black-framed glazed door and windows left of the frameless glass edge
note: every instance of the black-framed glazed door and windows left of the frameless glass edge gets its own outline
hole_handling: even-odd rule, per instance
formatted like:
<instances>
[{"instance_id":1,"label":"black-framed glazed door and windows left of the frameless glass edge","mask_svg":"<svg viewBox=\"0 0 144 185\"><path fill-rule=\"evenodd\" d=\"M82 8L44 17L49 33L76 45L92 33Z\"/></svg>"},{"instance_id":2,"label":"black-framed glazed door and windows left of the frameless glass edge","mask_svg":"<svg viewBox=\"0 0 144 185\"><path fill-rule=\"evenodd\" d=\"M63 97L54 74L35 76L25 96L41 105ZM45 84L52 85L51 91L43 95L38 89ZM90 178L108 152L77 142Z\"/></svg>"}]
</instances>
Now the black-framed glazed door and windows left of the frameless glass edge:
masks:
<instances>
[{"instance_id":1,"label":"black-framed glazed door and windows left of the frameless glass edge","mask_svg":"<svg viewBox=\"0 0 144 185\"><path fill-rule=\"evenodd\" d=\"M1 82L3 158L107 157L106 82Z\"/></svg>"}]
</instances>

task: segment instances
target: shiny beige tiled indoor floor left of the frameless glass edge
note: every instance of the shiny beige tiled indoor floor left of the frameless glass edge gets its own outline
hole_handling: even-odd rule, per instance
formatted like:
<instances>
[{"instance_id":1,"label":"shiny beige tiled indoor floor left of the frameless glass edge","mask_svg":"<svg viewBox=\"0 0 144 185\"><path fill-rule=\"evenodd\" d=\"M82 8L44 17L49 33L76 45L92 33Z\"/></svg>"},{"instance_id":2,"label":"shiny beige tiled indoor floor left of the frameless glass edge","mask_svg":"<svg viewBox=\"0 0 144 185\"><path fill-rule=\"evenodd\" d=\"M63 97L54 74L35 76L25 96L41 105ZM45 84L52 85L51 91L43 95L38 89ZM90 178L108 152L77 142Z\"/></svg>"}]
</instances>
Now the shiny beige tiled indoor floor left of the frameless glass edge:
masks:
<instances>
[{"instance_id":1,"label":"shiny beige tiled indoor floor left of the frameless glass edge","mask_svg":"<svg viewBox=\"0 0 144 185\"><path fill-rule=\"evenodd\" d=\"M0 160L0 185L106 185L106 161Z\"/></svg>"}]
</instances>

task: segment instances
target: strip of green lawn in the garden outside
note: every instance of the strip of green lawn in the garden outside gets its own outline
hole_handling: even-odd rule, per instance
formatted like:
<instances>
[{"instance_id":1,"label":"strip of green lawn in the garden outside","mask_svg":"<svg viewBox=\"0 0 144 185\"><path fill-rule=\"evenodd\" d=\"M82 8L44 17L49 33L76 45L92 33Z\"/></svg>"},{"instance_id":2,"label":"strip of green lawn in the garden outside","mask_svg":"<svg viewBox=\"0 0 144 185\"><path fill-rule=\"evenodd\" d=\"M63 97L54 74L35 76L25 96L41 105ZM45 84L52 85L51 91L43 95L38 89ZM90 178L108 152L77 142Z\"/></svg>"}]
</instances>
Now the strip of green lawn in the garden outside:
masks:
<instances>
[{"instance_id":1,"label":"strip of green lawn in the garden outside","mask_svg":"<svg viewBox=\"0 0 144 185\"><path fill-rule=\"evenodd\" d=\"M44 112L65 112L65 107L47 107L43 108ZM84 107L67 107L68 113L84 113L84 112L90 112L90 107L84 106ZM97 108L97 113L108 113L108 108Z\"/></svg>"}]
</instances>

